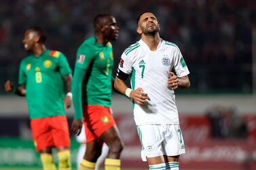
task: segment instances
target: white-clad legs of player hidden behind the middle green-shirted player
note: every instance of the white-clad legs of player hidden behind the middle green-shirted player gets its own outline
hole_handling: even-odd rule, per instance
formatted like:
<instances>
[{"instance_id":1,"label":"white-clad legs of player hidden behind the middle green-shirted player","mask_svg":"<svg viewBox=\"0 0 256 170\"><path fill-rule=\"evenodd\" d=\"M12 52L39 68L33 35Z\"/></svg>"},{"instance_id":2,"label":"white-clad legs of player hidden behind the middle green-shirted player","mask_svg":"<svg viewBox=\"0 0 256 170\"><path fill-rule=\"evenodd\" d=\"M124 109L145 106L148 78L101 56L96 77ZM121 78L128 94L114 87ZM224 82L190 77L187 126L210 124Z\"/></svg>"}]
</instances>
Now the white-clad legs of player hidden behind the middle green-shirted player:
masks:
<instances>
[{"instance_id":1,"label":"white-clad legs of player hidden behind the middle green-shirted player","mask_svg":"<svg viewBox=\"0 0 256 170\"><path fill-rule=\"evenodd\" d=\"M86 131L84 129L84 125L81 127L81 133L77 135L76 137L77 142L80 144L79 150L77 152L77 170L79 170L79 165L81 163L81 160L84 158L84 153L86 152ZM98 157L95 165L95 170L98 170L100 168L100 165L103 164L105 161L105 158L107 157L107 154L109 152L109 146L107 144L103 144L103 149L101 151L100 157Z\"/></svg>"}]
</instances>

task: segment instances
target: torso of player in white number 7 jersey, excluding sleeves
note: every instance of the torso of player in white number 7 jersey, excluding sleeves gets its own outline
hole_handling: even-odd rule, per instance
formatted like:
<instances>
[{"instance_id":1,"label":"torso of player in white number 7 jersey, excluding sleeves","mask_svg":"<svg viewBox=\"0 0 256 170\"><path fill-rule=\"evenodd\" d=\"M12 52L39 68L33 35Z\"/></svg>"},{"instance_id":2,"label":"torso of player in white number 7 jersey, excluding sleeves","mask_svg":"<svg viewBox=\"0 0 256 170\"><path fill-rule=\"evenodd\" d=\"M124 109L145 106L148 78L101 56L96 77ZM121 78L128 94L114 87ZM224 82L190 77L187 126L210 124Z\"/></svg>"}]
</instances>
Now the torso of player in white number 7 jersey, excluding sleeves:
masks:
<instances>
[{"instance_id":1,"label":"torso of player in white number 7 jersey, excluding sleeves","mask_svg":"<svg viewBox=\"0 0 256 170\"><path fill-rule=\"evenodd\" d=\"M135 104L136 123L179 123L175 94L168 87L173 49L164 44L156 51L139 47L132 57L132 87L142 87L149 97L145 105Z\"/></svg>"}]
</instances>

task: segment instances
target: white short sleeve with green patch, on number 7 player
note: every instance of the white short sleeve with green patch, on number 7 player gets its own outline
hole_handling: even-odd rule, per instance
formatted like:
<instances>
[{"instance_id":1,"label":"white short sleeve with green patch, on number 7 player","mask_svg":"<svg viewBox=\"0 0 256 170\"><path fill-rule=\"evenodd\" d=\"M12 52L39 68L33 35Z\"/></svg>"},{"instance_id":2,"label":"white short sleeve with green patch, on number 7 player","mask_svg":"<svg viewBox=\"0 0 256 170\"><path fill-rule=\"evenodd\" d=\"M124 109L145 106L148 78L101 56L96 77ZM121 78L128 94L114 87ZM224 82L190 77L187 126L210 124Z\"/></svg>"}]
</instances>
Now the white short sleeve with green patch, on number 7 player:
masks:
<instances>
[{"instance_id":1,"label":"white short sleeve with green patch, on number 7 player","mask_svg":"<svg viewBox=\"0 0 256 170\"><path fill-rule=\"evenodd\" d=\"M178 47L176 47L175 49L175 56L173 61L174 61L174 69L177 74L177 77L183 77L189 74L189 70L185 63L185 60Z\"/></svg>"}]
</instances>

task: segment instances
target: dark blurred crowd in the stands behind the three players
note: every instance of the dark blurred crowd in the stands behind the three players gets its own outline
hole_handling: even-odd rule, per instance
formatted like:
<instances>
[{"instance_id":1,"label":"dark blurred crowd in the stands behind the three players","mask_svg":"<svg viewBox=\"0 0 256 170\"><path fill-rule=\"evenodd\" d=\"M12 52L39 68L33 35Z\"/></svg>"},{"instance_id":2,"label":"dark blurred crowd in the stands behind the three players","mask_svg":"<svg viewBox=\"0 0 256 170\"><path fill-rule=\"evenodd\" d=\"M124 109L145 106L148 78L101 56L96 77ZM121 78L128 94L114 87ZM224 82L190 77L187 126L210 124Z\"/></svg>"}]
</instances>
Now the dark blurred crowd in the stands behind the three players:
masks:
<instances>
[{"instance_id":1,"label":"dark blurred crowd in the stands behind the three players","mask_svg":"<svg viewBox=\"0 0 256 170\"><path fill-rule=\"evenodd\" d=\"M156 13L161 37L181 49L191 92L251 91L254 0L2 0L0 83L17 79L18 64L27 56L21 43L26 28L41 26L48 48L62 51L73 67L76 49L93 34L98 13L113 14L120 26L113 43L116 68L122 51L139 40L136 18L145 10Z\"/></svg>"}]
</instances>

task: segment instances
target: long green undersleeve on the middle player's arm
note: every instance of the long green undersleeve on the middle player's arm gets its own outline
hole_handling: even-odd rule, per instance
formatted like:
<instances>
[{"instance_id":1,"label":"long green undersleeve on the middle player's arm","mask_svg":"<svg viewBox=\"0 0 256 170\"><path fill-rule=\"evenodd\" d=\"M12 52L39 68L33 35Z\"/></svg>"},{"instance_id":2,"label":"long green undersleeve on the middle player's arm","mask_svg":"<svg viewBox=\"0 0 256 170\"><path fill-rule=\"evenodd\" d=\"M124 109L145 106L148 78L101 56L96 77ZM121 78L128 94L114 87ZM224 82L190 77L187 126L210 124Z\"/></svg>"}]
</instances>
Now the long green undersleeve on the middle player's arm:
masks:
<instances>
[{"instance_id":1,"label":"long green undersleeve on the middle player's arm","mask_svg":"<svg viewBox=\"0 0 256 170\"><path fill-rule=\"evenodd\" d=\"M81 87L86 75L86 70L81 68L75 68L71 91L73 93L73 104L75 109L74 119L83 119L83 107L82 107L82 98L81 98Z\"/></svg>"}]
</instances>

